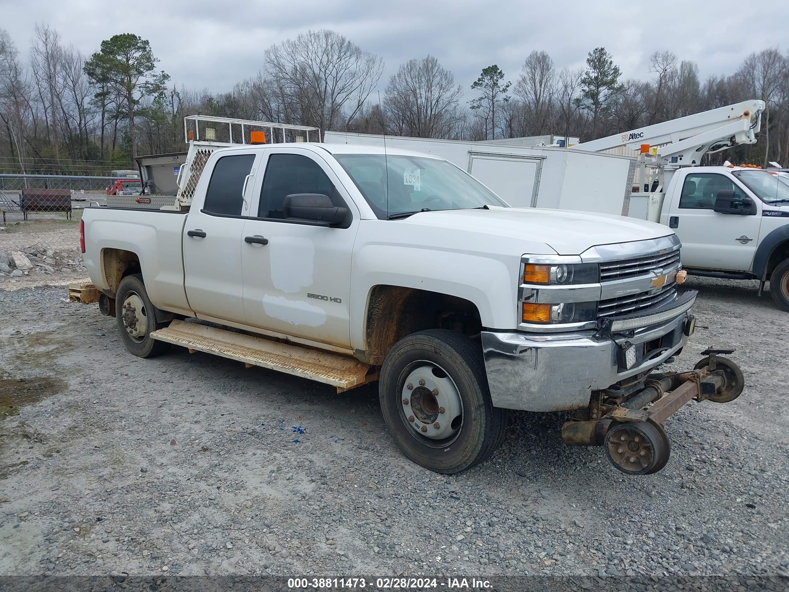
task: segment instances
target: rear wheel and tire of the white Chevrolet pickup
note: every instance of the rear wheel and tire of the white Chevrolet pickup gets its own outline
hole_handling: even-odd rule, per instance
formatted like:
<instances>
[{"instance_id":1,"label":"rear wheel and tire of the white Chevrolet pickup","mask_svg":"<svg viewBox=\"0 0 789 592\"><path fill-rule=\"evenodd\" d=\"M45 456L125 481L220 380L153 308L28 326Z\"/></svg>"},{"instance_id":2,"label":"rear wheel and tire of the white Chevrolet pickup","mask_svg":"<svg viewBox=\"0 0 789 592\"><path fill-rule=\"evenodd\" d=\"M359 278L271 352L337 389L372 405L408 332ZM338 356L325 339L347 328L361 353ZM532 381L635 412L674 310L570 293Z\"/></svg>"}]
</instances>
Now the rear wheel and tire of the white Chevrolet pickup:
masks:
<instances>
[{"instance_id":1,"label":"rear wheel and tire of the white Chevrolet pickup","mask_svg":"<svg viewBox=\"0 0 789 592\"><path fill-rule=\"evenodd\" d=\"M156 322L156 307L148 298L143 276L126 275L118 286L115 302L115 318L126 349L140 358L163 354L170 344L153 339L151 333L165 328L170 321Z\"/></svg>"}]
</instances>

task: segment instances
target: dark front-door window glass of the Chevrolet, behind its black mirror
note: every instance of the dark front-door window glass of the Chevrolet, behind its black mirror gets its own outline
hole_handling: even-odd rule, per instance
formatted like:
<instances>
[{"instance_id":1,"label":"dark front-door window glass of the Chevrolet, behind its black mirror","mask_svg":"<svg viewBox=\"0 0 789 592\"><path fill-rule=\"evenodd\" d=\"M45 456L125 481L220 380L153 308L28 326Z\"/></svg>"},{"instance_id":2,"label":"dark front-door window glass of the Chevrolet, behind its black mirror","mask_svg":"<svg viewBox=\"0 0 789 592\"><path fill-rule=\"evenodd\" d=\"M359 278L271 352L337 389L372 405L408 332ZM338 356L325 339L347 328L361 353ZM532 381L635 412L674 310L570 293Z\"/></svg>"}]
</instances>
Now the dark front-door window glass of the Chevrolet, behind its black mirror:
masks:
<instances>
[{"instance_id":1,"label":"dark front-door window glass of the Chevrolet, behind its black mirror","mask_svg":"<svg viewBox=\"0 0 789 592\"><path fill-rule=\"evenodd\" d=\"M293 193L322 193L331 198L332 204L345 206L334 183L314 160L301 154L269 155L258 217L284 219L282 202Z\"/></svg>"}]
</instances>

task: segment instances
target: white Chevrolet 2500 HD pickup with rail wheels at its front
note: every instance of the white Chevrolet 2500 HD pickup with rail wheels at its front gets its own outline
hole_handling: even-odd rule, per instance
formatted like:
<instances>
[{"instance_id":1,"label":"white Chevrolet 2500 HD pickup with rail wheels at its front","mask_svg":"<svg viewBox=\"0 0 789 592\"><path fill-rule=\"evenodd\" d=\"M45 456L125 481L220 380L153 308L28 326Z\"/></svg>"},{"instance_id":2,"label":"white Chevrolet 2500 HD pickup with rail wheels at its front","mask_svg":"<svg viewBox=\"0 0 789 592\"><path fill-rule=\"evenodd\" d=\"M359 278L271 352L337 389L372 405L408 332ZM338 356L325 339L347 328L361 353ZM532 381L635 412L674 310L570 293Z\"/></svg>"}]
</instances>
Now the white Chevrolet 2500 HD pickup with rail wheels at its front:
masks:
<instances>
[{"instance_id":1,"label":"white Chevrolet 2500 HD pickup with rail wheels at its front","mask_svg":"<svg viewBox=\"0 0 789 592\"><path fill-rule=\"evenodd\" d=\"M189 212L86 208L80 231L131 353L175 343L339 391L378 380L394 440L442 473L488 458L509 409L573 411L567 444L653 473L670 414L742 392L721 350L653 373L694 331L673 230L509 208L431 155L221 148Z\"/></svg>"}]
</instances>

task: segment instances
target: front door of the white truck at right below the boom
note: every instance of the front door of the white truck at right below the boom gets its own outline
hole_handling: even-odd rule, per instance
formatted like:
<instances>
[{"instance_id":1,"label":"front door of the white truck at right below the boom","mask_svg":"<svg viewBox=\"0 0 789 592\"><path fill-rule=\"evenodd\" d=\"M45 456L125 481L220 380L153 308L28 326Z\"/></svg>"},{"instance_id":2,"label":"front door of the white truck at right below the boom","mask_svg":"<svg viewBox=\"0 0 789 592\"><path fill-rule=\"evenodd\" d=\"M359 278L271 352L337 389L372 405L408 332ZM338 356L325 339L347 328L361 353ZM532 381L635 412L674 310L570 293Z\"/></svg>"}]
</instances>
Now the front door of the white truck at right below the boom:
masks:
<instances>
[{"instance_id":1,"label":"front door of the white truck at right below the boom","mask_svg":"<svg viewBox=\"0 0 789 592\"><path fill-rule=\"evenodd\" d=\"M668 219L664 215L661 222L674 228L682 241L685 267L750 271L759 238L761 200L752 198L755 215L713 211L718 192L728 189L735 191L735 197L747 195L724 174L693 172L682 181L679 196L675 192L672 197Z\"/></svg>"}]
</instances>

